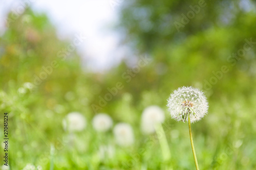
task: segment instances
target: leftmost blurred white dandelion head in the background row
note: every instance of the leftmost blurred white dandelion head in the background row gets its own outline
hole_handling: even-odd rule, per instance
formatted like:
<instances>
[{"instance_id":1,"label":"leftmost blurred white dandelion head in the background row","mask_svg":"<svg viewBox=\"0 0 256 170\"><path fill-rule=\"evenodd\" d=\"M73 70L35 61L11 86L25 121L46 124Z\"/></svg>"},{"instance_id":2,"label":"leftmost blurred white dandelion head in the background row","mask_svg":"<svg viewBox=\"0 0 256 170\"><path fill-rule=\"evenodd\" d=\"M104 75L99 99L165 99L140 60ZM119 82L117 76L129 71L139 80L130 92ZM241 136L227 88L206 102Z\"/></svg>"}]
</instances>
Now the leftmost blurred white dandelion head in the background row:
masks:
<instances>
[{"instance_id":1,"label":"leftmost blurred white dandelion head in the background row","mask_svg":"<svg viewBox=\"0 0 256 170\"><path fill-rule=\"evenodd\" d=\"M82 131L86 128L86 118L79 112L69 113L62 121L64 130Z\"/></svg>"}]
</instances>

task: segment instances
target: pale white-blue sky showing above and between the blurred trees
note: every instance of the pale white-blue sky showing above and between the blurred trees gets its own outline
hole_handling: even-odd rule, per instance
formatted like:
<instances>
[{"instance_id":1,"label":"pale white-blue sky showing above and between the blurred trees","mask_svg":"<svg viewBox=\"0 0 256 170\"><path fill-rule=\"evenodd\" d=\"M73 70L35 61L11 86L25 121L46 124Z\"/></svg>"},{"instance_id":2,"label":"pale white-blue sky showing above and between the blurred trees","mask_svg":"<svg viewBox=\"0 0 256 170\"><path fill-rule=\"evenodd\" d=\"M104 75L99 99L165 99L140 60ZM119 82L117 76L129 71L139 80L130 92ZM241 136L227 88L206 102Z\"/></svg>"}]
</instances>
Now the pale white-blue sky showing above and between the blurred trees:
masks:
<instances>
[{"instance_id":1,"label":"pale white-blue sky showing above and between the blurred trees","mask_svg":"<svg viewBox=\"0 0 256 170\"><path fill-rule=\"evenodd\" d=\"M118 9L122 0L26 0L36 13L46 13L57 29L60 39L74 38L76 34L86 36L78 46L84 59L83 65L91 71L104 71L118 64L127 48L119 46L119 36L113 31L118 20ZM0 0L0 35L3 34L4 19L9 11L22 10L20 0Z\"/></svg>"}]
</instances>

